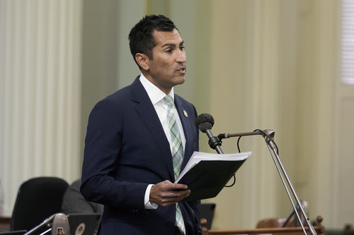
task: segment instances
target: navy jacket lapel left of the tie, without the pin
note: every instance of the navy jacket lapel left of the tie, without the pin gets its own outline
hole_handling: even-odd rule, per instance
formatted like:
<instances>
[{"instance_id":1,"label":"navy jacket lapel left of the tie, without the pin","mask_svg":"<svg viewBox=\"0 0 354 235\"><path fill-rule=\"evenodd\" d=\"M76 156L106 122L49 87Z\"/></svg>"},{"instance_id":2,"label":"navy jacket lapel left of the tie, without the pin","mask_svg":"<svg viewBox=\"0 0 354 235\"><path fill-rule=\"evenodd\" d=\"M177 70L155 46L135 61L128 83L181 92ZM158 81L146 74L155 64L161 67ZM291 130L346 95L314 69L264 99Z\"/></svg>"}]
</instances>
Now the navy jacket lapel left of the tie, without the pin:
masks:
<instances>
[{"instance_id":1,"label":"navy jacket lapel left of the tie, without the pin","mask_svg":"<svg viewBox=\"0 0 354 235\"><path fill-rule=\"evenodd\" d=\"M139 81L139 76L135 79L134 83L130 85L132 102L135 104L135 110L139 114L140 118L144 124L149 129L149 132L152 134L159 150L161 152L161 159L166 164L166 167L169 169L170 178L174 179L173 174L173 163L171 150L169 145L169 140L167 140L164 133L164 128L161 126L159 116L157 116L154 109L154 105L149 99L146 90L142 86L142 83Z\"/></svg>"}]
</instances>

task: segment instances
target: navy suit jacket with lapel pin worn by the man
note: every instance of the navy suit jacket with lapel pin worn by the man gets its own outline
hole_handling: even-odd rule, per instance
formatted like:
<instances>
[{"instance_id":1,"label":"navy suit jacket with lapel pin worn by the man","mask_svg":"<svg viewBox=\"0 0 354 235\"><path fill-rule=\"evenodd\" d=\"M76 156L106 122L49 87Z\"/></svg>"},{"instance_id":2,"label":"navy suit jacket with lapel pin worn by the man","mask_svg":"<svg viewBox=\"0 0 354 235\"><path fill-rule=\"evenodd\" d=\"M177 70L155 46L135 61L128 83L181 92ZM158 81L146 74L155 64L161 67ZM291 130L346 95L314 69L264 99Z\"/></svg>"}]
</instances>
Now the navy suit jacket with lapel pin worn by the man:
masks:
<instances>
[{"instance_id":1,"label":"navy suit jacket with lapel pin worn by the man","mask_svg":"<svg viewBox=\"0 0 354 235\"><path fill-rule=\"evenodd\" d=\"M183 167L198 150L197 112L175 95L185 133ZM144 208L151 183L174 182L169 141L139 81L105 97L93 108L87 126L81 193L105 205L100 234L173 234L176 206ZM200 200L181 203L187 235L201 234Z\"/></svg>"}]
</instances>

